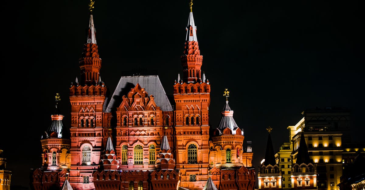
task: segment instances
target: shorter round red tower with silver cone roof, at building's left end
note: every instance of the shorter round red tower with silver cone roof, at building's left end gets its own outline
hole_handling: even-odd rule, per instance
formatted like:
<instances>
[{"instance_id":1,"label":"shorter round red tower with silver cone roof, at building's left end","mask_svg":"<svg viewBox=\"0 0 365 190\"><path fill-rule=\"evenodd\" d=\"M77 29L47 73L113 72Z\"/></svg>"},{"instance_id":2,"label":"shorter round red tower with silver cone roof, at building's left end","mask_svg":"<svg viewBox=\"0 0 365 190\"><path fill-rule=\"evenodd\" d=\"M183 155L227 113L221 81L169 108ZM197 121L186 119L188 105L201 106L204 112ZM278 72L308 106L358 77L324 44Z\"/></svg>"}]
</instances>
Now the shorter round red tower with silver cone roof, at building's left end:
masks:
<instances>
[{"instance_id":1,"label":"shorter round red tower with silver cone roof, at building's left end","mask_svg":"<svg viewBox=\"0 0 365 190\"><path fill-rule=\"evenodd\" d=\"M33 172L33 185L36 190L59 188L70 169L70 139L62 123L64 116L59 113L60 101L61 97L57 93L51 124L41 139L42 167Z\"/></svg>"}]
</instances>

